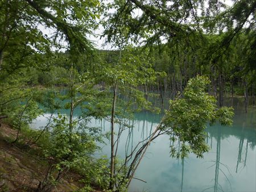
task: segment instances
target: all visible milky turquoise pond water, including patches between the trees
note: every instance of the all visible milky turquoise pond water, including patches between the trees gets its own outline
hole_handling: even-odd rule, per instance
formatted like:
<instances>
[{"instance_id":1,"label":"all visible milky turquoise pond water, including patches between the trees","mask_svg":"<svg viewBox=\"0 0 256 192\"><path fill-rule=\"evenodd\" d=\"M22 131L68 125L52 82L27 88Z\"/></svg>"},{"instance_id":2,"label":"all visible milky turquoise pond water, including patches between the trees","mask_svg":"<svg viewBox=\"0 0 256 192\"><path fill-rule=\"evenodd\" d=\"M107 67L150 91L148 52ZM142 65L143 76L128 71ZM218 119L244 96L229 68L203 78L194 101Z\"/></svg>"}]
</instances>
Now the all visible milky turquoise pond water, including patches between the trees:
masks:
<instances>
[{"instance_id":1,"label":"all visible milky turquoise pond water, including patches between the trees","mask_svg":"<svg viewBox=\"0 0 256 192\"><path fill-rule=\"evenodd\" d=\"M231 104L231 101L226 103ZM232 127L218 124L207 127L210 151L204 158L196 158L193 154L184 160L170 158L168 136L154 140L134 176L146 183L134 179L129 191L256 191L256 107L249 107L245 114L242 100L233 101L233 106ZM45 124L45 116L40 116L31 126L36 128ZM135 114L134 120L128 120L134 128L123 132L119 157L124 157L138 141L154 131L160 118L161 115L141 112ZM93 119L89 124L102 127L104 132L110 130L106 120ZM101 154L110 154L109 141Z\"/></svg>"}]
</instances>

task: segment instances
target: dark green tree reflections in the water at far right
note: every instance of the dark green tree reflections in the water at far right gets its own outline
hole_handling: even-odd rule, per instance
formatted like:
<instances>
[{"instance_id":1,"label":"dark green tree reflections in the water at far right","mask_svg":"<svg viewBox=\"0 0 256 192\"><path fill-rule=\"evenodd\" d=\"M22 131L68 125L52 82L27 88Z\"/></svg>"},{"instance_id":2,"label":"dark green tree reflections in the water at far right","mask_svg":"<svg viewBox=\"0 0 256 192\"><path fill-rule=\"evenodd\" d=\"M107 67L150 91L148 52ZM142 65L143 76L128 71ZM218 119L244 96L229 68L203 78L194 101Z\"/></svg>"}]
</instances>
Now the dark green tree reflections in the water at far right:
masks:
<instances>
[{"instance_id":1,"label":"dark green tree reflections in the water at far right","mask_svg":"<svg viewBox=\"0 0 256 192\"><path fill-rule=\"evenodd\" d=\"M214 186L210 186L204 191L209 189L213 189L214 191L223 191L222 186L220 185L218 180L219 174L220 174L219 172L224 174L226 180L229 182L230 190L232 190L232 186L229 181L229 178L224 172L224 170L228 170L227 173L231 175L231 173L229 172L229 168L227 165L222 164L220 161L221 140L228 139L228 137L230 136L235 136L240 140L238 145L236 173L238 173L240 170L245 168L248 147L250 145L250 147L254 149L256 144L256 138L255 138L256 130L254 128L250 128L254 120L253 114L250 114L250 113L247 114L243 119L243 123L239 122L240 120L241 119L234 120L233 127L221 128L220 126L214 126L214 127L207 128L206 130L208 134L207 143L212 148L212 138L214 137L217 141L217 148L216 148L216 161L212 161L214 162L212 166L215 166ZM246 140L246 145L245 145L245 140ZM244 157L244 159L242 157ZM240 166L240 164L242 164L242 166Z\"/></svg>"}]
</instances>

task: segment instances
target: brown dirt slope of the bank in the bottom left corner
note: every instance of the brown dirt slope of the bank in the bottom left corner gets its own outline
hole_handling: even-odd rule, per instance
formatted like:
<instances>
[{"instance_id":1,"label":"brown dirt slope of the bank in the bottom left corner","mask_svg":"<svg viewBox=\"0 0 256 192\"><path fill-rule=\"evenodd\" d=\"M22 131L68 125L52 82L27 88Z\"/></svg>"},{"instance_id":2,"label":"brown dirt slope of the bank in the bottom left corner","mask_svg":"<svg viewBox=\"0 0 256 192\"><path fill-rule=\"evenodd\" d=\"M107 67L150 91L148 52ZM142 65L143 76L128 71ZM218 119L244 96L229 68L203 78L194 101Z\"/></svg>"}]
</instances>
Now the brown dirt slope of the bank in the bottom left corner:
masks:
<instances>
[{"instance_id":1,"label":"brown dirt slope of the bank in the bottom left corner","mask_svg":"<svg viewBox=\"0 0 256 192\"><path fill-rule=\"evenodd\" d=\"M16 131L6 124L0 127L0 191L35 191L43 181L47 161L31 154L31 149L22 149L10 140ZM69 173L52 191L76 191L81 187L80 176Z\"/></svg>"}]
</instances>

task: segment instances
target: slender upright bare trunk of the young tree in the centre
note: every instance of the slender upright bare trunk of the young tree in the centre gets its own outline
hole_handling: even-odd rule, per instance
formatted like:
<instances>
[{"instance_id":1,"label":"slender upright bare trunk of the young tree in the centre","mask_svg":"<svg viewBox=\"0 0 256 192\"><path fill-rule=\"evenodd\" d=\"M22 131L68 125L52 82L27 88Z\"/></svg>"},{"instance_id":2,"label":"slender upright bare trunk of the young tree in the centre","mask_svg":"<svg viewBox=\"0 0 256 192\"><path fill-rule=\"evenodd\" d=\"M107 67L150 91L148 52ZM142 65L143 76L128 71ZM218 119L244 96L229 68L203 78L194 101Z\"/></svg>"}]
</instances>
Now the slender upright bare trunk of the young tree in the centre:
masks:
<instances>
[{"instance_id":1,"label":"slender upright bare trunk of the young tree in the centre","mask_svg":"<svg viewBox=\"0 0 256 192\"><path fill-rule=\"evenodd\" d=\"M111 157L110 157L110 183L109 189L114 189L114 118L115 118L115 103L117 101L117 84L114 86L112 113L111 113Z\"/></svg>"}]
</instances>

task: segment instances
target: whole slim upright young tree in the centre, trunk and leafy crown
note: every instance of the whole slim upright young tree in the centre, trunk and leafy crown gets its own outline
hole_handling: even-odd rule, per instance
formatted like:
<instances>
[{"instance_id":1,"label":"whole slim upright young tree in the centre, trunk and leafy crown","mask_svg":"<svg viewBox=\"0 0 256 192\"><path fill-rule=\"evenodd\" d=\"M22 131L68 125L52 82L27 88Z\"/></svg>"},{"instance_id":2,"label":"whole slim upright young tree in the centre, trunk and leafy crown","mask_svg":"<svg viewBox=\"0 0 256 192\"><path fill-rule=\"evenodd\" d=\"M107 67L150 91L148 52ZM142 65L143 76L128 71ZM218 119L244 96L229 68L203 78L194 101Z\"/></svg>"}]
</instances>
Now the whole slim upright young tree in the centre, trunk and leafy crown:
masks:
<instances>
[{"instance_id":1,"label":"whole slim upright young tree in the centre, trunk and leafy crown","mask_svg":"<svg viewBox=\"0 0 256 192\"><path fill-rule=\"evenodd\" d=\"M127 124L123 124L121 119L128 119L132 112L150 106L150 102L144 98L143 91L139 91L137 88L139 85L154 82L156 73L147 58L138 55L137 48L131 47L123 48L114 61L102 66L103 68L101 68L99 76L101 77L101 81L105 83L105 89L109 90L110 95L112 95L110 114L111 155L109 189L113 190L114 184L116 186L119 185L117 173L120 172L120 170L116 170L117 164L115 162L117 161L119 137L127 128ZM120 125L116 139L114 138L115 123Z\"/></svg>"}]
</instances>

